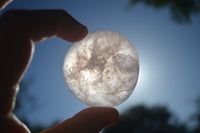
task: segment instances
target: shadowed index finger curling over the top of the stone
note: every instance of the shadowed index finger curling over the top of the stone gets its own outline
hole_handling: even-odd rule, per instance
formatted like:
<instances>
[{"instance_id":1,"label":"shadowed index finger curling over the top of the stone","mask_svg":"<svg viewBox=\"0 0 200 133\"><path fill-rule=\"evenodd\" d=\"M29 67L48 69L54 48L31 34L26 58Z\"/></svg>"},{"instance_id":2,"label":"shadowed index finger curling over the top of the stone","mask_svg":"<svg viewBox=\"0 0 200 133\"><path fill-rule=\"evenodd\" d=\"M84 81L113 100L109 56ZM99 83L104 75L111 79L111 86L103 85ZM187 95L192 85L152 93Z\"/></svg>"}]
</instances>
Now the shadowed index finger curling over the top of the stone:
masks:
<instances>
[{"instance_id":1,"label":"shadowed index finger curling over the top of the stone","mask_svg":"<svg viewBox=\"0 0 200 133\"><path fill-rule=\"evenodd\" d=\"M13 109L16 85L33 54L33 42L54 36L76 42L88 30L64 10L11 10L0 18L0 114Z\"/></svg>"}]
</instances>

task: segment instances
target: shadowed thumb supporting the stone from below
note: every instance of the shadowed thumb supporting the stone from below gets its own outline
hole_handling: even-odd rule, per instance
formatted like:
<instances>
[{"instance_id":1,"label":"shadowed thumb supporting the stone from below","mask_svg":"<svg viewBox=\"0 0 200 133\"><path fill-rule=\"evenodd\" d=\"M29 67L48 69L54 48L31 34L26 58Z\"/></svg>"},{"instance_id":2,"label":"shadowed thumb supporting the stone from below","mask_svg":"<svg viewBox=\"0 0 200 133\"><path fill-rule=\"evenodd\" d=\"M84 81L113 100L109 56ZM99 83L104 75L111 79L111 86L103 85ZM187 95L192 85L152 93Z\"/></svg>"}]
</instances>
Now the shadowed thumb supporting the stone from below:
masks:
<instances>
[{"instance_id":1,"label":"shadowed thumb supporting the stone from below","mask_svg":"<svg viewBox=\"0 0 200 133\"><path fill-rule=\"evenodd\" d=\"M90 107L42 133L97 133L118 119L119 113L114 108Z\"/></svg>"}]
</instances>

